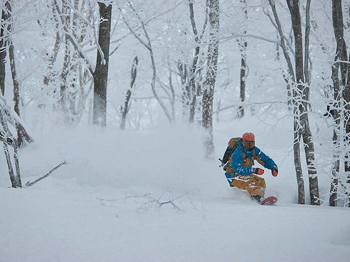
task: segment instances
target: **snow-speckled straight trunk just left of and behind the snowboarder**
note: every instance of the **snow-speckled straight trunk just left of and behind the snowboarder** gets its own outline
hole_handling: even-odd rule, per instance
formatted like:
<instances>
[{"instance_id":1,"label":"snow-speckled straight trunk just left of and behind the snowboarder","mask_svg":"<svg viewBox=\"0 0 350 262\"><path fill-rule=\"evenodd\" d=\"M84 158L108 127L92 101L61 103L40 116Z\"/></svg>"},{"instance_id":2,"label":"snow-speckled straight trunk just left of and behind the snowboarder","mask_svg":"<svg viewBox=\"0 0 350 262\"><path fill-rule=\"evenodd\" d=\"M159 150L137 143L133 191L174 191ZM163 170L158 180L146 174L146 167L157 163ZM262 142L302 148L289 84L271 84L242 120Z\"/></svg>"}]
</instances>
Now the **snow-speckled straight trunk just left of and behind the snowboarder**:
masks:
<instances>
[{"instance_id":1,"label":"snow-speckled straight trunk just left of and behind the snowboarder","mask_svg":"<svg viewBox=\"0 0 350 262\"><path fill-rule=\"evenodd\" d=\"M217 57L218 57L218 31L219 31L219 0L209 1L210 43L207 55L207 71L204 82L202 98L202 126L205 130L204 145L206 157L209 158L214 152L213 129L212 129L212 103L214 86L216 82Z\"/></svg>"}]
</instances>

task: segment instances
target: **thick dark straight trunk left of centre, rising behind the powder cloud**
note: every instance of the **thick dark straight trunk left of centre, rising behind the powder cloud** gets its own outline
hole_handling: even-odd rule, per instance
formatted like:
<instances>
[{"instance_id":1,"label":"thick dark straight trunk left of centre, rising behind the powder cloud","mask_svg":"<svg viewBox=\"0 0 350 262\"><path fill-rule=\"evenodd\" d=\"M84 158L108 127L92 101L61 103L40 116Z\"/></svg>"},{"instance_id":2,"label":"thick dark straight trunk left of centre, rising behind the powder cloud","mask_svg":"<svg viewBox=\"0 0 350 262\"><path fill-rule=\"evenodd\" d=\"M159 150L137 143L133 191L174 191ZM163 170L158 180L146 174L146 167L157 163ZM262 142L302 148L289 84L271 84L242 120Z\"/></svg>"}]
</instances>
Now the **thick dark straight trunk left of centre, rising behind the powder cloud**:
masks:
<instances>
[{"instance_id":1,"label":"thick dark straight trunk left of centre, rising behind the powder cloud","mask_svg":"<svg viewBox=\"0 0 350 262\"><path fill-rule=\"evenodd\" d=\"M99 3L99 7L100 21L102 22L99 24L98 44L101 47L103 57L100 51L97 50L96 68L94 71L93 124L105 127L112 3L107 6L104 3Z\"/></svg>"}]
</instances>

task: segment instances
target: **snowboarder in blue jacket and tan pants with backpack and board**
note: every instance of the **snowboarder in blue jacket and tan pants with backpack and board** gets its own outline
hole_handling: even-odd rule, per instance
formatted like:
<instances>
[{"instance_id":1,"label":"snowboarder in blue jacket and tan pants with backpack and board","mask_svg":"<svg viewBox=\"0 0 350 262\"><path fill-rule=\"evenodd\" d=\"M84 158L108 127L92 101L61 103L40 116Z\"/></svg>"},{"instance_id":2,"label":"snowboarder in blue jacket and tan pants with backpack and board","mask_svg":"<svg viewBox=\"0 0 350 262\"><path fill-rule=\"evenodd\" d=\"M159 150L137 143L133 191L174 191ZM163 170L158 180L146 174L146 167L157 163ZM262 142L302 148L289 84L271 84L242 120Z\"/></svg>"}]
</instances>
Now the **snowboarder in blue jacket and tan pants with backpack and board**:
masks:
<instances>
[{"instance_id":1,"label":"snowboarder in blue jacket and tan pants with backpack and board","mask_svg":"<svg viewBox=\"0 0 350 262\"><path fill-rule=\"evenodd\" d=\"M264 169L253 168L254 160L270 169L274 177L278 175L276 163L255 146L253 133L244 133L242 138L232 138L222 160L226 178L231 187L247 190L252 200L259 204L274 204L277 202L276 197L264 198L265 179L257 176L263 175Z\"/></svg>"}]
</instances>

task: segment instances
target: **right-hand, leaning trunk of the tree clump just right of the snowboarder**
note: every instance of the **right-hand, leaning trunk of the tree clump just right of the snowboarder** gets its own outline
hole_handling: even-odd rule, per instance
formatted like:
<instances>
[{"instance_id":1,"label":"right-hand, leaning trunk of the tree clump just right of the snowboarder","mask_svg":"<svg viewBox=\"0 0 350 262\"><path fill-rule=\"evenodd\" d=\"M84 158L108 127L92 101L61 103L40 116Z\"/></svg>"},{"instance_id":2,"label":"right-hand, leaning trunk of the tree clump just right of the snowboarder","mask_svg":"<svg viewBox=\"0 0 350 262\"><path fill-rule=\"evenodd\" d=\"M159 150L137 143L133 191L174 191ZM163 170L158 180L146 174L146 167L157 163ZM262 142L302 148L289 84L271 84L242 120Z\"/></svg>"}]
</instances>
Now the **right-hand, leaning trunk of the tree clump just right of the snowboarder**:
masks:
<instances>
[{"instance_id":1,"label":"right-hand, leaning trunk of the tree clump just right of the snowboarder","mask_svg":"<svg viewBox=\"0 0 350 262\"><path fill-rule=\"evenodd\" d=\"M294 34L294 48L295 48L295 80L297 85L296 102L298 108L298 116L302 127L302 140L304 144L305 157L308 166L309 174L309 190L311 204L319 205L319 189L317 171L314 166L314 142L312 141L312 133L309 124L308 115L308 94L309 85L304 81L304 65L303 65L303 42L301 32L301 21L299 12L299 0L287 0L288 8L292 19L292 28ZM301 101L301 102L300 102Z\"/></svg>"}]
</instances>

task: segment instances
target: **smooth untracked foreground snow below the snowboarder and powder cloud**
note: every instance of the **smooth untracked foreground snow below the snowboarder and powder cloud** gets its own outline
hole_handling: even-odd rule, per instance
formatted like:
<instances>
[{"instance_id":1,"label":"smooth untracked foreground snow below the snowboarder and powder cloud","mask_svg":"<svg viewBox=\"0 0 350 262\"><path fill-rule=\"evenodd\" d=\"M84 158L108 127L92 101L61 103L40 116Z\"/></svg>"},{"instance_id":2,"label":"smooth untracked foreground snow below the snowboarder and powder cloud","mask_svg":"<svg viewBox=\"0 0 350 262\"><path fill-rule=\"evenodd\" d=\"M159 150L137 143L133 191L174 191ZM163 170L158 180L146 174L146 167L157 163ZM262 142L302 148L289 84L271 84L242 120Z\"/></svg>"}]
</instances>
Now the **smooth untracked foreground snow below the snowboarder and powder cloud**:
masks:
<instances>
[{"instance_id":1,"label":"smooth untracked foreground snow below the snowboarder and powder cloud","mask_svg":"<svg viewBox=\"0 0 350 262\"><path fill-rule=\"evenodd\" d=\"M243 196L216 196L203 200L204 209L184 199L184 212L170 205L137 212L141 199L96 198L119 196L113 188L56 178L1 189L0 260L328 262L350 256L345 208L259 206Z\"/></svg>"}]
</instances>

